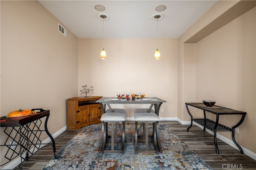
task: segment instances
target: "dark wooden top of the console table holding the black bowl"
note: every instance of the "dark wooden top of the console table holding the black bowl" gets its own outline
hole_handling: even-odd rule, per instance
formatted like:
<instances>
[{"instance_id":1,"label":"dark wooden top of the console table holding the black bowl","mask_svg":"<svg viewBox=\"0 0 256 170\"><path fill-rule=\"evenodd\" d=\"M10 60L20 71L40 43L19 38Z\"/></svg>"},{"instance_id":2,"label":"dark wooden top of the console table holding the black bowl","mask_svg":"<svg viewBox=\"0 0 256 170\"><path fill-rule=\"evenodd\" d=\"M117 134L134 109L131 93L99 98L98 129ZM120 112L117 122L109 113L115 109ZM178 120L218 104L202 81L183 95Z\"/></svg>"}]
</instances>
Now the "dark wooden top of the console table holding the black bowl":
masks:
<instances>
[{"instance_id":1,"label":"dark wooden top of the console table holding the black bowl","mask_svg":"<svg viewBox=\"0 0 256 170\"><path fill-rule=\"evenodd\" d=\"M185 103L186 105L196 107L198 109L202 109L205 111L208 111L210 113L218 114L218 115L228 115L228 114L240 114L240 115L246 115L246 112L244 111L239 111L239 110L234 110L222 106L212 106L212 107L207 107L204 105L204 103Z\"/></svg>"}]
</instances>

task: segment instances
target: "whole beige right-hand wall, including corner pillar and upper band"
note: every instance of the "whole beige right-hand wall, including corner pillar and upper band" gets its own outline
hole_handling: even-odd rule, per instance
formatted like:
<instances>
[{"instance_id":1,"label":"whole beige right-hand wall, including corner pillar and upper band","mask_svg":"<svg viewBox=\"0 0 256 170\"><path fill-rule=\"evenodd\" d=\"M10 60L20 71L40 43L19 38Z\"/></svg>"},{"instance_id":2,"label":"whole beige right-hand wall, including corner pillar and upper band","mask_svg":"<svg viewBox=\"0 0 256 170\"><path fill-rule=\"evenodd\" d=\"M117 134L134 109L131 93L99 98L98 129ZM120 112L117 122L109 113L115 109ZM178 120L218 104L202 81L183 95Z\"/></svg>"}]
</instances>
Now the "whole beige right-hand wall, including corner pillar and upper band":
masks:
<instances>
[{"instance_id":1,"label":"whole beige right-hand wall, including corner pillar and upper band","mask_svg":"<svg viewBox=\"0 0 256 170\"><path fill-rule=\"evenodd\" d=\"M246 111L246 119L239 127L239 134L235 135L242 147L255 153L255 8L204 39L184 44L236 3L217 2L178 39L178 118L189 121L184 103L202 100L214 100L216 105ZM212 115L209 117L215 118ZM232 127L239 120L238 115L222 116L220 123ZM220 135L232 140L231 133L220 132Z\"/></svg>"}]
</instances>

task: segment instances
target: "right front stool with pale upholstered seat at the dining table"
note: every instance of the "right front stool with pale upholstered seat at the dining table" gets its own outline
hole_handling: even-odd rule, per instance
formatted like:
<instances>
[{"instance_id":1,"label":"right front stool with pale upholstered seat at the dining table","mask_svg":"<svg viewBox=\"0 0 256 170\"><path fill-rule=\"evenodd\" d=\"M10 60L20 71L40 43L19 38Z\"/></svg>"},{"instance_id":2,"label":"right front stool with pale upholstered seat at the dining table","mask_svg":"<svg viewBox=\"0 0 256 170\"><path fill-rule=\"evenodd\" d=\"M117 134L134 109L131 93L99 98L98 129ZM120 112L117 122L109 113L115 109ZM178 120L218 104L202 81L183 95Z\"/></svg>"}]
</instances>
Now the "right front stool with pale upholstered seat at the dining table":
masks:
<instances>
[{"instance_id":1,"label":"right front stool with pale upholstered seat at the dining table","mask_svg":"<svg viewBox=\"0 0 256 170\"><path fill-rule=\"evenodd\" d=\"M160 152L161 145L159 141L159 131L158 131L158 123L160 121L158 115L153 112L137 112L134 113L134 119L135 119L135 154L138 154L138 133L141 129L141 126L146 123L146 136L145 136L145 150L140 150L141 152L156 152L157 154ZM138 122L142 122L138 129ZM148 150L148 123L153 123L153 131L152 131L152 137L153 137L153 144L155 150Z\"/></svg>"}]
</instances>

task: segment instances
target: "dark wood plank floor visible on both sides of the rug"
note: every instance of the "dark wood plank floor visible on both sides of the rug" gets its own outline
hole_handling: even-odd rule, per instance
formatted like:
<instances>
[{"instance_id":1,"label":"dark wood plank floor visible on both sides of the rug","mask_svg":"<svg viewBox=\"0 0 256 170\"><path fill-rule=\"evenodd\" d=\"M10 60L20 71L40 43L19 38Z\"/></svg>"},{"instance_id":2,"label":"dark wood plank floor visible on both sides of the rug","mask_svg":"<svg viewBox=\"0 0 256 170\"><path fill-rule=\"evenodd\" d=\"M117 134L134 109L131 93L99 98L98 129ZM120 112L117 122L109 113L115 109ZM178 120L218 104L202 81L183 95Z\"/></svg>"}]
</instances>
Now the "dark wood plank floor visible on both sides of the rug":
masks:
<instances>
[{"instance_id":1,"label":"dark wood plank floor visible on both sides of the rug","mask_svg":"<svg viewBox=\"0 0 256 170\"><path fill-rule=\"evenodd\" d=\"M192 150L194 150L212 169L242 169L256 170L256 160L250 158L230 145L218 140L219 154L215 152L213 136L193 125L186 131L188 125L177 121L161 121L174 131ZM66 130L56 137L56 153L77 133L76 130ZM228 133L228 132L227 132ZM44 147L23 162L23 169L42 169L53 157L52 147ZM14 169L19 169L18 167Z\"/></svg>"}]
</instances>

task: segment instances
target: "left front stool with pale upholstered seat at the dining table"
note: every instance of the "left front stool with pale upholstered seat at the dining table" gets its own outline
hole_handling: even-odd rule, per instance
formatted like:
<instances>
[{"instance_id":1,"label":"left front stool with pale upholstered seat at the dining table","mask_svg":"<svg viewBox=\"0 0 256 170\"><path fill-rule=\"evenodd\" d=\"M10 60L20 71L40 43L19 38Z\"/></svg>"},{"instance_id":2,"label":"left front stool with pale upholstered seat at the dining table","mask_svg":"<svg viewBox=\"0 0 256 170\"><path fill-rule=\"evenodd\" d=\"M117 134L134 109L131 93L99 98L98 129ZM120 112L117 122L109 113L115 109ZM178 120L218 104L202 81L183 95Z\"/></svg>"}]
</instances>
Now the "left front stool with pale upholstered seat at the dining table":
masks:
<instances>
[{"instance_id":1,"label":"left front stool with pale upholstered seat at the dining table","mask_svg":"<svg viewBox=\"0 0 256 170\"><path fill-rule=\"evenodd\" d=\"M126 113L122 112L106 112L104 113L100 121L102 122L102 135L100 142L100 153L103 152L122 152L124 153L124 141L125 141L125 118ZM114 124L115 123L123 123L122 129L122 150L114 150ZM112 123L112 133L111 133L111 150L104 150L106 147L106 143L108 141L108 123Z\"/></svg>"}]
</instances>

